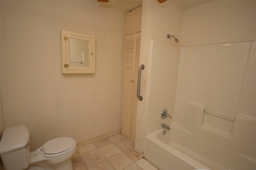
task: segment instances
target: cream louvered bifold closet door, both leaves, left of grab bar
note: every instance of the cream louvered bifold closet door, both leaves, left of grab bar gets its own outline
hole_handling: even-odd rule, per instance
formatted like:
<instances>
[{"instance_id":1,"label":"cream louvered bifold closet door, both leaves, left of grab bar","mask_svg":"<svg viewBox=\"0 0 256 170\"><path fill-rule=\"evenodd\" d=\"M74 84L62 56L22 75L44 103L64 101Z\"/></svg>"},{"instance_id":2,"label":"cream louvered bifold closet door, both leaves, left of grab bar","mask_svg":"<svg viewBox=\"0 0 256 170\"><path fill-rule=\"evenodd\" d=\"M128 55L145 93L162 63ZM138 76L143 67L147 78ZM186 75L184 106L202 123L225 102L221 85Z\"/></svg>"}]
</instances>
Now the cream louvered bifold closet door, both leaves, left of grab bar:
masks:
<instances>
[{"instance_id":1,"label":"cream louvered bifold closet door, both leaves, left of grab bar","mask_svg":"<svg viewBox=\"0 0 256 170\"><path fill-rule=\"evenodd\" d=\"M121 133L135 141L137 114L137 82L140 60L140 33L126 35L124 48L124 80Z\"/></svg>"}]
</instances>

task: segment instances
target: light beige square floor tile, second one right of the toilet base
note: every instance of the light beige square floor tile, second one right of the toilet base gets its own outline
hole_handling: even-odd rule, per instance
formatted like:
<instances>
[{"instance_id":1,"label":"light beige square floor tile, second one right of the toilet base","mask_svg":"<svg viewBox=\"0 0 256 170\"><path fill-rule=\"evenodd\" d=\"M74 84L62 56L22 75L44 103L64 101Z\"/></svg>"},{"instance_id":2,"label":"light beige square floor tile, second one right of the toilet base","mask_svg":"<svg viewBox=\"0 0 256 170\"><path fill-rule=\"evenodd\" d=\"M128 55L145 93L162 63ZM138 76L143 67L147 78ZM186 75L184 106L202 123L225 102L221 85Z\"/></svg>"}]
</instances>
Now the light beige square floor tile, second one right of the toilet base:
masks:
<instances>
[{"instance_id":1,"label":"light beige square floor tile, second one right of the toilet base","mask_svg":"<svg viewBox=\"0 0 256 170\"><path fill-rule=\"evenodd\" d=\"M102 162L103 160L106 160L106 158L98 149L93 150L89 153L83 154L81 158L84 161L84 164L86 165L87 168L90 168Z\"/></svg>"}]
</instances>

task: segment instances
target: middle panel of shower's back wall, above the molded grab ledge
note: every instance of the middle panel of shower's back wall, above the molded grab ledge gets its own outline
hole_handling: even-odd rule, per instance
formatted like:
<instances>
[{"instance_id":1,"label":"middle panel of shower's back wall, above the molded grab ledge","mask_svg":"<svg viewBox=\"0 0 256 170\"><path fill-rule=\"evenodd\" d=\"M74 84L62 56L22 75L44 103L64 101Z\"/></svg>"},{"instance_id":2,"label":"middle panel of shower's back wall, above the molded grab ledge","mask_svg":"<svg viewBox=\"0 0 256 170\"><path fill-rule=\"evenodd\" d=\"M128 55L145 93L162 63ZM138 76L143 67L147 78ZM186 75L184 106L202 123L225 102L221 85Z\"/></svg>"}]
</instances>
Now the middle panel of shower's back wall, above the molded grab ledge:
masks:
<instances>
[{"instance_id":1,"label":"middle panel of shower's back wall, above the molded grab ledge","mask_svg":"<svg viewBox=\"0 0 256 170\"><path fill-rule=\"evenodd\" d=\"M234 119L251 41L214 45L206 110Z\"/></svg>"}]
</instances>

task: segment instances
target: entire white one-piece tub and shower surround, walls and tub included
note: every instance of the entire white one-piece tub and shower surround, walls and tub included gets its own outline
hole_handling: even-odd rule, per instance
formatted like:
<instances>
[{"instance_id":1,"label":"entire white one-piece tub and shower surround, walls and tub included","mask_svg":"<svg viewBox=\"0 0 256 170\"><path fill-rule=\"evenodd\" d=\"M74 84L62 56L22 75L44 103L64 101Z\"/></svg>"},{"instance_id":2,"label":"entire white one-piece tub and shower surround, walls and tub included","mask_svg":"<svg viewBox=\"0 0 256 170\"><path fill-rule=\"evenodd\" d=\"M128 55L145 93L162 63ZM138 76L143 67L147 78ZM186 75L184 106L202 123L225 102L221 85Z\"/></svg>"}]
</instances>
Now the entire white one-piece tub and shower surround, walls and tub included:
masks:
<instances>
[{"instance_id":1,"label":"entire white one-piece tub and shower surround, walls and tub included","mask_svg":"<svg viewBox=\"0 0 256 170\"><path fill-rule=\"evenodd\" d=\"M146 159L161 170L256 169L256 41L179 48L152 40L151 67ZM166 107L172 120L161 119Z\"/></svg>"}]
</instances>

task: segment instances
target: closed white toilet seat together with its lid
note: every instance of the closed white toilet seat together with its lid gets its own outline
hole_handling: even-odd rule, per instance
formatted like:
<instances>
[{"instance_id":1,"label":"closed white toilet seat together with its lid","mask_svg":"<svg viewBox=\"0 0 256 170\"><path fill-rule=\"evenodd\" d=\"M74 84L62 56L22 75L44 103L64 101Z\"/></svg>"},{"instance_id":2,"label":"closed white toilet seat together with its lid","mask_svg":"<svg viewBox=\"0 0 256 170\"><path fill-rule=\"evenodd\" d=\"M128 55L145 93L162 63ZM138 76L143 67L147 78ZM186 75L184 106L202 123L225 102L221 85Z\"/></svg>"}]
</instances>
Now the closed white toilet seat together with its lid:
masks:
<instances>
[{"instance_id":1,"label":"closed white toilet seat together with its lid","mask_svg":"<svg viewBox=\"0 0 256 170\"><path fill-rule=\"evenodd\" d=\"M65 154L73 149L76 141L70 137L59 137L46 142L42 149L44 157L52 158Z\"/></svg>"}]
</instances>

